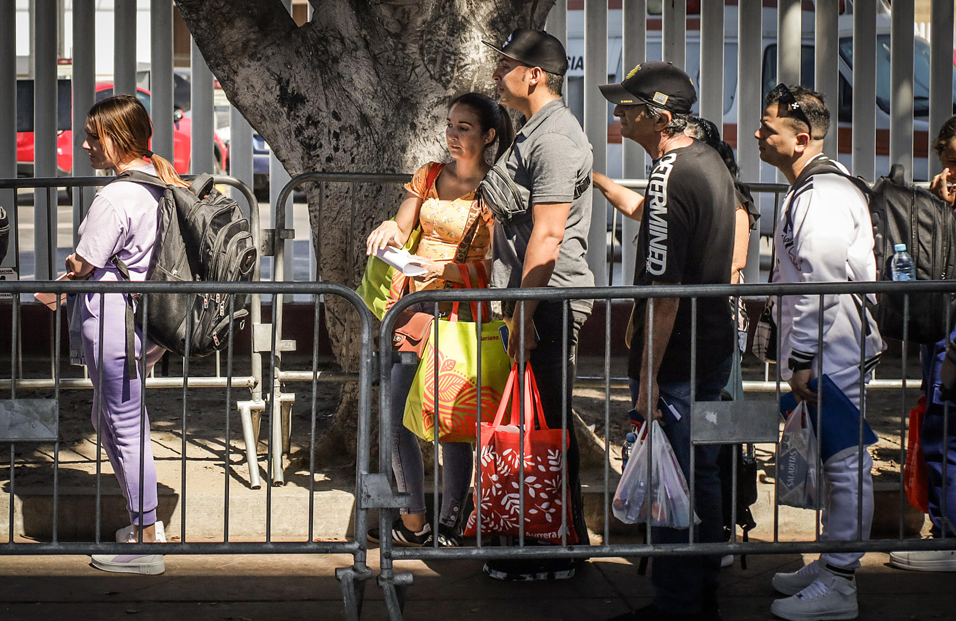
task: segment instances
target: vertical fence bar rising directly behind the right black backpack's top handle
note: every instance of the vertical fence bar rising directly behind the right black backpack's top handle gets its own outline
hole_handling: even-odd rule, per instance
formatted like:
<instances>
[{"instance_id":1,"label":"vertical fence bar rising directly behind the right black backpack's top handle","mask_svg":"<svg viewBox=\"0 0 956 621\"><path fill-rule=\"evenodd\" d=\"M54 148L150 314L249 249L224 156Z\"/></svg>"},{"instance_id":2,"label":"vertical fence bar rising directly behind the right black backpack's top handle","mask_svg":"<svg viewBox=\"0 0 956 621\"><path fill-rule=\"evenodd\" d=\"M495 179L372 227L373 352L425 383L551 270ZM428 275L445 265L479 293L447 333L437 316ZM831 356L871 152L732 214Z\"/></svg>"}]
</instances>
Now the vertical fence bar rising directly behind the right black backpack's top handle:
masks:
<instances>
[{"instance_id":1,"label":"vertical fence bar rising directly behind the right black backpack's top handle","mask_svg":"<svg viewBox=\"0 0 956 621\"><path fill-rule=\"evenodd\" d=\"M890 15L890 164L902 164L907 181L913 179L913 52L913 3L897 2Z\"/></svg>"}]
</instances>

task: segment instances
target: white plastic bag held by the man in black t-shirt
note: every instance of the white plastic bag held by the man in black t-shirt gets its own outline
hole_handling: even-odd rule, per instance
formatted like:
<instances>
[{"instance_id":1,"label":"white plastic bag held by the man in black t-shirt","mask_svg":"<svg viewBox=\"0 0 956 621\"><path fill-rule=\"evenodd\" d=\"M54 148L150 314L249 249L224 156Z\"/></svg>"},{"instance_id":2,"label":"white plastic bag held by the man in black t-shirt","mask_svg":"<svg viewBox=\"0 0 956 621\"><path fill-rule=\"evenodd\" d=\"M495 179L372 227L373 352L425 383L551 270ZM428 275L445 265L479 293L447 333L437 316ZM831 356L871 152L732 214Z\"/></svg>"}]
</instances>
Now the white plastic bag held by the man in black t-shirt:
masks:
<instances>
[{"instance_id":1,"label":"white plastic bag held by the man in black t-shirt","mask_svg":"<svg viewBox=\"0 0 956 621\"><path fill-rule=\"evenodd\" d=\"M646 522L650 507L652 526L688 528L690 494L684 472L657 420L651 423L651 434L652 441L644 440L637 454L627 461L614 496L614 515L627 524ZM651 477L647 476L648 450L653 451L654 458ZM695 513L694 524L700 522Z\"/></svg>"}]
</instances>

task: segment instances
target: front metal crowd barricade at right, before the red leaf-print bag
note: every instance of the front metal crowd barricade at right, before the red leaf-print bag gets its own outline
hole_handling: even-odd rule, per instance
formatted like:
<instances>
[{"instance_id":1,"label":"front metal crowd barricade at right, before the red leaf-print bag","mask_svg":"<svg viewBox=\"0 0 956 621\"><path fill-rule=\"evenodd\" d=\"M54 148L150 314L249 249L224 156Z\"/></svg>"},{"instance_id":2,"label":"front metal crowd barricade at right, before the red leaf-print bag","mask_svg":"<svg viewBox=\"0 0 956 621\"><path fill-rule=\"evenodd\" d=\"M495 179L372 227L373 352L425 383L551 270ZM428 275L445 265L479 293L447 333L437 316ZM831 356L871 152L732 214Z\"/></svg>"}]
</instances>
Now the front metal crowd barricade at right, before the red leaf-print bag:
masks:
<instances>
[{"instance_id":1,"label":"front metal crowd barricade at right, before the red leaf-print bag","mask_svg":"<svg viewBox=\"0 0 956 621\"><path fill-rule=\"evenodd\" d=\"M701 298L714 298L714 297L723 297L727 298L729 296L741 296L741 295L752 295L752 296L771 296L775 297L777 301L777 316L776 321L777 325L780 325L781 321L781 310L780 305L780 296L784 295L794 295L794 294L803 294L803 295L818 295L820 299L820 308L822 309L823 297L824 295L836 295L836 294L863 294L863 293L887 293L887 292L896 292L906 294L905 299L907 301L906 312L904 314L904 321L908 320L908 299L910 296L920 295L922 293L928 293L932 291L942 291L948 293L956 293L956 282L954 281L933 281L933 282L869 282L869 283L814 283L814 284L750 284L750 285L697 285L697 286L655 286L651 287L619 287L619 288L580 288L580 289L453 289L453 290L443 290L443 291L424 291L419 293L414 293L407 295L402 298L398 303L396 303L391 310L389 310L381 322L380 328L380 437L379 437L379 473L378 475L369 475L371 477L377 477L377 485L375 488L369 488L367 494L363 494L363 502L365 503L365 508L377 507L380 509L396 509L404 506L408 506L409 497L407 494L401 494L392 487L386 484L386 482L394 481L392 478L392 437L395 433L393 430L393 417L391 416L392 408L402 407L403 404L395 404L391 402L391 391L389 390L391 382L391 373L390 365L385 364L385 361L395 360L398 362L399 356L393 354L391 350L390 338L395 321L399 316L399 313L402 310L405 310L412 305L419 303L427 303L428 307L431 308L434 305L434 314L436 320L439 316L439 304L440 303L449 303L453 301L459 302L478 302L478 301L495 301L495 300L509 300L520 302L521 300L542 300L542 301L559 301L563 305L563 314L565 326L567 326L567 321L569 320L569 304L571 300L581 300L581 299L591 299L595 301L595 305L605 305L606 315L605 315L605 339L606 347L604 353L604 390L605 390L605 409L604 409L604 429L605 435L607 436L607 430L610 428L610 418L611 418L611 398L610 398L610 386L611 386L611 377L610 377L610 368L611 368L611 354L610 354L610 343L612 338L622 338L621 334L613 334L611 331L611 301L615 299L640 299L640 298L663 298L663 297L677 297L682 298L684 303L689 299L691 304L691 322L692 322L692 336L691 336L691 350L690 350L690 371L688 374L689 384L690 384L690 431L689 438L692 446L701 445L701 444L729 444L729 443L763 443L763 442L777 442L779 425L782 421L779 415L779 400L782 391L787 390L786 388L781 387L781 378L779 375L779 369L777 371L777 376L774 381L775 385L775 396L776 398L773 401L743 401L743 402L720 402L720 401L696 401L695 400L695 387L696 387L696 366L697 358L699 355L706 355L707 353L702 353L697 351L696 347L696 333L697 333L697 320L698 320L698 302ZM649 305L649 321L651 326L654 322L654 312L653 306ZM518 306L517 312L523 312L522 306ZM956 318L953 318L956 319ZM437 323L437 322L436 322ZM519 322L521 325L521 322ZM649 331L648 340L651 341L649 347L653 347L653 329ZM863 357L865 353L865 332L860 331L860 347L861 347L861 356L860 356L860 365L859 365L859 381L860 385L864 381L864 374L866 370L863 365ZM437 327L435 332L432 332L431 338L437 338ZM480 352L480 342L477 339L481 338L481 332L476 330L475 334L477 350ZM777 331L777 351L780 350L780 339L782 338L782 331ZM820 352L827 351L827 343L823 339L822 324L819 331L817 339L818 350ZM564 341L564 352L567 353L568 341ZM441 345L438 344L437 347L440 349ZM480 354L479 354L480 355ZM733 354L737 360L739 360L740 351L737 347L734 347ZM902 388L906 388L905 380L905 361L906 361L906 343L903 343L902 350L902 359L903 359L903 377ZM566 356L565 356L566 357ZM822 365L822 362L819 363ZM480 361L477 362L478 368L480 368ZM437 373L437 372L436 372ZM815 375L821 375L821 367L815 365ZM646 378L645 378L646 379ZM564 383L566 379L562 379L562 390L566 388ZM822 384L822 382L820 382ZM477 392L481 394L481 378L478 377L478 386ZM822 393L820 389L817 392L817 398L822 399ZM435 396L435 411L439 410L438 396ZM746 411L740 411L741 404L746 404ZM496 404L489 403L480 403L478 405L479 416L476 421L476 437L478 445L475 448L476 454L481 454L481 430L480 421L483 417L486 417L487 414L483 412L483 408L488 409L493 413L494 406ZM906 425L906 415L907 415L907 404L905 401L905 395L901 398L901 421L900 421L900 433L901 433L901 456L900 463L905 464L904 459L904 447L905 447L905 425ZM858 482L857 482L857 497L861 496L862 489L862 451L866 450L864 448L863 441L863 418L866 413L866 399L862 397L860 399L860 410L862 415L859 418L858 423ZM948 411L948 406L946 406ZM819 427L821 410L817 410L817 428ZM437 418L437 416L436 416ZM944 425L947 425L948 414L944 416ZM566 418L562 419L561 427L562 429L573 429L573 421L567 420ZM436 423L435 427L438 425ZM947 426L944 428L944 438L947 438L951 431ZM438 463L438 439L439 434L435 433L435 472L434 472L434 503L435 503L435 518L438 516L438 505L440 503L439 498L439 486L438 486L438 477L439 477L439 463ZM820 448L820 439L817 435L817 451ZM564 468L567 468L567 448L563 448L564 452ZM652 453L652 451L648 451ZM690 490L690 512L693 515L695 508L695 499L696 491L695 490L695 462L694 462L694 451L690 452L690 465L689 465L689 476L688 476L688 485ZM650 460L648 456L648 460ZM524 470L524 456L521 458L521 465L519 466L518 472L523 472ZM651 464L652 465L652 464ZM648 466L650 469L651 465ZM929 540L913 540L913 539L903 539L903 506L905 501L905 494L903 489L903 480L904 480L904 471L901 472L900 483L899 483L899 494L900 494L900 531L899 537L896 539L864 539L862 537L861 529L862 522L860 520L862 503L858 503L858 518L857 518L857 535L852 540L848 541L821 541L819 539L820 535L820 513L821 513L821 500L817 496L816 507L815 507L815 524L816 524L816 537L815 541L781 541L779 539L778 531L778 504L774 500L774 511L773 511L773 537L772 541L769 542L758 542L750 541L748 543L741 543L737 541L736 532L734 532L731 541L728 542L708 542L708 543L697 543L694 541L696 527L691 522L691 526L687 529L687 539L684 543L680 544L661 544L655 543L652 539L651 534L651 516L650 511L648 511L647 522L646 522L646 533L645 533L645 542L644 544L616 544L613 541L611 529L610 529L610 499L614 493L614 489L610 484L609 473L610 473L610 443L609 438L604 439L604 460L603 460L603 470L604 470L604 489L603 489L603 503L604 503L604 521L602 525L602 536L603 540L600 545L592 546L567 546L567 545L553 545L553 546L525 546L524 538L524 529L521 530L521 536L516 538L516 543L514 546L488 546L482 541L481 535L478 536L475 546L462 546L462 547L439 547L438 546L438 537L434 538L433 547L428 548L415 548L415 547L397 547L392 538L392 521L393 517L392 512L388 510L382 510L380 512L380 563L381 563L381 573L379 577L380 587L384 590L385 601L387 609L389 611L390 618L394 620L402 618L402 609L405 601L405 591L412 584L412 575L410 573L396 572L394 569L394 562L397 560L409 560L409 559L420 559L420 560L489 560L489 559L587 559L595 557L628 557L628 556L658 556L658 555L692 555L692 554L793 554L793 553L815 553L815 552L851 552L851 551L881 551L881 552L890 552L896 550L949 550L956 549L956 538L953 537L942 537L937 539ZM901 465L901 468L904 468L904 465ZM736 469L737 469L737 458L733 459L733 480L736 481ZM565 470L566 471L566 470ZM817 488L820 488L819 483L822 481L822 468L817 469L818 480ZM952 473L946 471L946 464L944 460L943 465L943 479L944 479L944 489L945 481L952 476ZM476 464L476 475L475 483L478 486L477 493L481 495L481 477L480 477L480 465ZM779 485L778 482L775 485ZM525 489L524 485L519 485L521 503L520 506L525 506L524 496ZM564 497L570 497L568 493L568 479L564 477L562 483L562 494ZM736 484L734 483L733 489L733 515L731 517L731 524L736 523ZM776 497L776 493L774 493ZM947 507L945 506L945 494L943 496L943 506L942 506L942 515L947 515ZM482 508L481 503L478 503L477 507L477 532L481 533L482 531ZM561 525L566 529L567 527L567 511L561 511ZM719 519L719 517L717 518ZM519 521L520 516L519 516ZM523 522L523 521L521 521ZM434 528L437 525L433 525ZM951 526L950 526L951 527ZM596 528L597 530L597 528ZM486 536L487 541L487 536Z\"/></svg>"}]
</instances>

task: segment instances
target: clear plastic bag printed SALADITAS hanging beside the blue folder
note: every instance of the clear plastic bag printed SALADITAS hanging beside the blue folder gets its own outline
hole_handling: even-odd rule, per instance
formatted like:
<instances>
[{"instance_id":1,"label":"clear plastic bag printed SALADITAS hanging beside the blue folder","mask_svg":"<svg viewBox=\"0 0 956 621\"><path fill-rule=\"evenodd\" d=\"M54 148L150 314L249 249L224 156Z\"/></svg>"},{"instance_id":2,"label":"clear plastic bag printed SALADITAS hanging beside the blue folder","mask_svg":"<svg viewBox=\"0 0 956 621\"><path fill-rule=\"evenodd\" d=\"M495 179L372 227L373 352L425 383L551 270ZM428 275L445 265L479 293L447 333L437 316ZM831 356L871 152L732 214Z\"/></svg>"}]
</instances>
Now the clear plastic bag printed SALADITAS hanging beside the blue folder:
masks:
<instances>
[{"instance_id":1,"label":"clear plastic bag printed SALADITAS hanging beside the blue folder","mask_svg":"<svg viewBox=\"0 0 956 621\"><path fill-rule=\"evenodd\" d=\"M805 401L787 417L777 447L777 503L810 509L816 506L816 437Z\"/></svg>"}]
</instances>

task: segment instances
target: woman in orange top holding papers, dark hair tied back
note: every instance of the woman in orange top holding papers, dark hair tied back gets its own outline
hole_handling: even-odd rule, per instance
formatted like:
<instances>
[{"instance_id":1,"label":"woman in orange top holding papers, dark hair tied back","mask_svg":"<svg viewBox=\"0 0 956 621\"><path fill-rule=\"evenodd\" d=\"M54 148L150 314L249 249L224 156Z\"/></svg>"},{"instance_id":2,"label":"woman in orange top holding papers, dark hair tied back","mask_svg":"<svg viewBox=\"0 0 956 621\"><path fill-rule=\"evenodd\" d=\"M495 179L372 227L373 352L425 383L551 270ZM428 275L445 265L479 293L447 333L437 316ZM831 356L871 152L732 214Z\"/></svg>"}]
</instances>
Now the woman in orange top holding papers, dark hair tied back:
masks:
<instances>
[{"instance_id":1,"label":"woman in orange top holding papers, dark hair tied back","mask_svg":"<svg viewBox=\"0 0 956 621\"><path fill-rule=\"evenodd\" d=\"M446 120L445 143L451 161L429 161L419 168L405 185L407 193L395 219L381 223L368 236L366 252L373 255L385 246L402 247L412 230L421 225L422 241L415 252L417 263L427 272L410 282L408 292L461 287L462 263L480 264L490 273L493 216L478 201L476 189L493 161L511 145L511 118L489 96L467 93L451 102ZM410 310L432 312L432 305L416 305ZM469 310L459 314L463 321L472 320ZM412 498L392 525L393 540L396 546L431 546L432 537L437 536L439 546L461 546L460 518L471 483L471 444L441 442L442 507L437 532L433 532L425 519L422 451L415 434L402 425L416 370L413 365L392 366L392 469L399 491ZM369 529L368 537L378 542L379 529Z\"/></svg>"}]
</instances>

